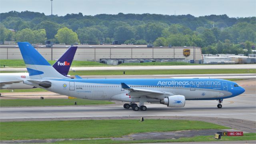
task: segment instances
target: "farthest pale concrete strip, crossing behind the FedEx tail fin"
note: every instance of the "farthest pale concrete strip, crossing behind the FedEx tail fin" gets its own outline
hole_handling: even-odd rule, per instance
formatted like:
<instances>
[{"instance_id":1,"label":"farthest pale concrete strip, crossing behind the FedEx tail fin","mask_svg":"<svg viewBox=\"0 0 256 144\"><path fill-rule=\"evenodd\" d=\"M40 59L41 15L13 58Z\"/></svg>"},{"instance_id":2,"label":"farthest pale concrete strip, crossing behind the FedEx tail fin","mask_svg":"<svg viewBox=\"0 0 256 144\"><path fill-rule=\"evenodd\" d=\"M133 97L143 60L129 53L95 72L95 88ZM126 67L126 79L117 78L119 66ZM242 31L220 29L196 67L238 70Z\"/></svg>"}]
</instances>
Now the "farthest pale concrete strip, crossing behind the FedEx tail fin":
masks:
<instances>
[{"instance_id":1,"label":"farthest pale concrete strip, crossing behind the FedEx tail fin","mask_svg":"<svg viewBox=\"0 0 256 144\"><path fill-rule=\"evenodd\" d=\"M188 70L188 69L255 69L256 64L215 64L182 66L71 66L70 70ZM26 68L0 68L1 71L26 71Z\"/></svg>"}]
</instances>

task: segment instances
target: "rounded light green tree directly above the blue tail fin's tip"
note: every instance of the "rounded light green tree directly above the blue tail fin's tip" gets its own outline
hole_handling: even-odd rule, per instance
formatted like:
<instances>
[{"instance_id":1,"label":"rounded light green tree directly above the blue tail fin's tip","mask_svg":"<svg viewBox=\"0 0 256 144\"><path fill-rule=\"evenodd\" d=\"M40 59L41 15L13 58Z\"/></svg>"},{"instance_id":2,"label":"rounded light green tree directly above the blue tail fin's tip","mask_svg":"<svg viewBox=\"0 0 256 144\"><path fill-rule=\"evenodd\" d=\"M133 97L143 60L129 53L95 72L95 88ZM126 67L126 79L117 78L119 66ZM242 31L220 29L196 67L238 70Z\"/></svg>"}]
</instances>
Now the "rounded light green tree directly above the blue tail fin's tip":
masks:
<instances>
[{"instance_id":1,"label":"rounded light green tree directly above the blue tail fin's tip","mask_svg":"<svg viewBox=\"0 0 256 144\"><path fill-rule=\"evenodd\" d=\"M27 41L29 43L34 43L35 41L35 35L34 32L31 29L22 29L21 31L18 31L15 35L16 42L18 41Z\"/></svg>"}]
</instances>

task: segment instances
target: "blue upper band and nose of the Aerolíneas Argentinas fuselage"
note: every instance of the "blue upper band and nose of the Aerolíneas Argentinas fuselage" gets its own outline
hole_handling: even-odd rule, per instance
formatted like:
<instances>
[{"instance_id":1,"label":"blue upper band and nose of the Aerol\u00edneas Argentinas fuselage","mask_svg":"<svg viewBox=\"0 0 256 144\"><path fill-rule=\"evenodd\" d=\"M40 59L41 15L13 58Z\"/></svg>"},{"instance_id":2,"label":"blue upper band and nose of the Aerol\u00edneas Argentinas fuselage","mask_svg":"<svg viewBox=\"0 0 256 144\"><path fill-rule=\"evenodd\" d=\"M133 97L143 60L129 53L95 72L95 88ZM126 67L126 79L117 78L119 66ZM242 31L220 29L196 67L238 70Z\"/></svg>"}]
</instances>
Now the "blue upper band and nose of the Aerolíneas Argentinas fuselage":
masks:
<instances>
[{"instance_id":1,"label":"blue upper band and nose of the Aerol\u00edneas Argentinas fuselage","mask_svg":"<svg viewBox=\"0 0 256 144\"><path fill-rule=\"evenodd\" d=\"M219 91L229 91L232 95L226 97L217 98L206 98L206 99L188 99L188 100L213 100L213 99L226 99L240 95L244 92L241 87L233 87L234 82L221 79L61 79L57 81L64 82L81 82L81 83L92 83L92 84L116 84L121 85L125 83L126 85L132 86L163 86L163 87L174 87L174 88L195 88L195 89L210 89ZM223 90L226 83L227 90ZM194 85L193 85L194 84Z\"/></svg>"}]
</instances>

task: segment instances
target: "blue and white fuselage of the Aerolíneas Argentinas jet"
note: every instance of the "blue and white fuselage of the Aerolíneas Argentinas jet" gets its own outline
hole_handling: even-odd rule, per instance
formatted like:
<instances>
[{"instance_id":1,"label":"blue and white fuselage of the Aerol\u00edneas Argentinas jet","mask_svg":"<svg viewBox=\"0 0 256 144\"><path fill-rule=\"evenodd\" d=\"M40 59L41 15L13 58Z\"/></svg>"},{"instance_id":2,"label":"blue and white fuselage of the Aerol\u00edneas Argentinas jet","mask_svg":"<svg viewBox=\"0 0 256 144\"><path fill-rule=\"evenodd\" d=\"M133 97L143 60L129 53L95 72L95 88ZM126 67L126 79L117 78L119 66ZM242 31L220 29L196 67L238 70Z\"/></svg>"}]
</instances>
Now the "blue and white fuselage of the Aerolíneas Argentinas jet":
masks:
<instances>
[{"instance_id":1,"label":"blue and white fuselage of the Aerol\u00edneas Argentinas jet","mask_svg":"<svg viewBox=\"0 0 256 144\"><path fill-rule=\"evenodd\" d=\"M240 95L244 89L235 82L220 79L60 79L48 80L47 90L82 99L121 100L139 102L126 95L121 83L130 88L162 91L166 95L184 95L186 100L226 99ZM118 97L116 97L118 95ZM165 94L157 97L161 99ZM147 97L145 102L155 102ZM158 100L159 101L159 100Z\"/></svg>"}]
</instances>

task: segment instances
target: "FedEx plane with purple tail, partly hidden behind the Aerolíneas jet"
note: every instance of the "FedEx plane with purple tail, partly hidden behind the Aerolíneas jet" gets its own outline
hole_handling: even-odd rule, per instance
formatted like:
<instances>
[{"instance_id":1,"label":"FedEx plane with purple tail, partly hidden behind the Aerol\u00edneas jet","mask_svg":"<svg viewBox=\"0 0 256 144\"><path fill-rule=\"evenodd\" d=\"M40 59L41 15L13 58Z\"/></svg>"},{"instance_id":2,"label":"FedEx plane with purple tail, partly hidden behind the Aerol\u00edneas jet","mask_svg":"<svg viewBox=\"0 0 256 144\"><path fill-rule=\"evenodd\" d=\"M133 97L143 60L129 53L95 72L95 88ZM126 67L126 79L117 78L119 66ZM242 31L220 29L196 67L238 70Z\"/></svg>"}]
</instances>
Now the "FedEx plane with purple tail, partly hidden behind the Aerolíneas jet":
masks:
<instances>
[{"instance_id":1,"label":"FedEx plane with purple tail, partly hidden behind the Aerol\u00edneas jet","mask_svg":"<svg viewBox=\"0 0 256 144\"><path fill-rule=\"evenodd\" d=\"M77 47L71 46L52 66L60 74L68 76ZM29 73L0 73L0 90L2 89L31 89L36 88L22 83L17 78L29 78ZM1 93L0 93L1 96Z\"/></svg>"}]
</instances>

